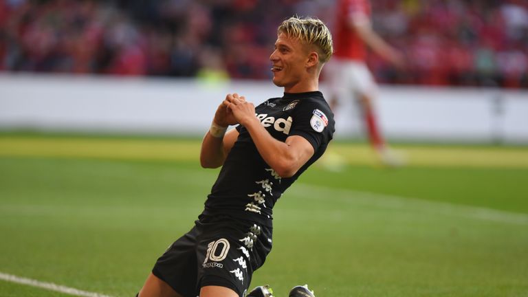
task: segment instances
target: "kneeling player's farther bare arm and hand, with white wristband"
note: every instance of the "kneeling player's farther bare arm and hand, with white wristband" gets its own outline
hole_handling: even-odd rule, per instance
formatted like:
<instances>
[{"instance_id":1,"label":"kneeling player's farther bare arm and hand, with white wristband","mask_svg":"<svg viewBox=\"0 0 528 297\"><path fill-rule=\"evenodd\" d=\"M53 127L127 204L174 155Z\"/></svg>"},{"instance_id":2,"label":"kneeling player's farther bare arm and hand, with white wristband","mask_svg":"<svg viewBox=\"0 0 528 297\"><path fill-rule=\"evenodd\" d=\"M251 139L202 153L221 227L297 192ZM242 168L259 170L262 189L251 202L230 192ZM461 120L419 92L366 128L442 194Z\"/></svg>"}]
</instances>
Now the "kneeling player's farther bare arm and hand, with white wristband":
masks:
<instances>
[{"instance_id":1,"label":"kneeling player's farther bare arm and hand, with white wristband","mask_svg":"<svg viewBox=\"0 0 528 297\"><path fill-rule=\"evenodd\" d=\"M212 129L227 129L229 125L233 124L238 124L238 122L236 122L232 112L228 110L226 105L222 102L216 113L214 113L214 119L212 120L211 125ZM201 142L201 166L203 168L218 168L219 166L222 166L225 157L228 155L238 136L239 132L236 131L236 129L228 131L225 135L212 135L211 130L207 131Z\"/></svg>"}]
</instances>

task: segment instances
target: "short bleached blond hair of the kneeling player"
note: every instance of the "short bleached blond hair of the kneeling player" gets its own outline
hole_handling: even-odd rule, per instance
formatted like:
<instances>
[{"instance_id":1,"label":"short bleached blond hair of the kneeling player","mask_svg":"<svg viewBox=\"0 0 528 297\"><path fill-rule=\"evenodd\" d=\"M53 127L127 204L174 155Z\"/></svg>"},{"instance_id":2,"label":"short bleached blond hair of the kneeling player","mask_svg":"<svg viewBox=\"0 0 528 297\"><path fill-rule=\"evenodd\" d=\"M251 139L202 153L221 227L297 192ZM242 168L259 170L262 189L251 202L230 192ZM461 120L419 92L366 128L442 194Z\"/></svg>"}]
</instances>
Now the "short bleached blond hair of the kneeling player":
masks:
<instances>
[{"instance_id":1,"label":"short bleached blond hair of the kneeling player","mask_svg":"<svg viewBox=\"0 0 528 297\"><path fill-rule=\"evenodd\" d=\"M315 45L319 61L327 63L333 53L332 34L320 19L290 17L277 28L277 34L284 33L308 45Z\"/></svg>"}]
</instances>

